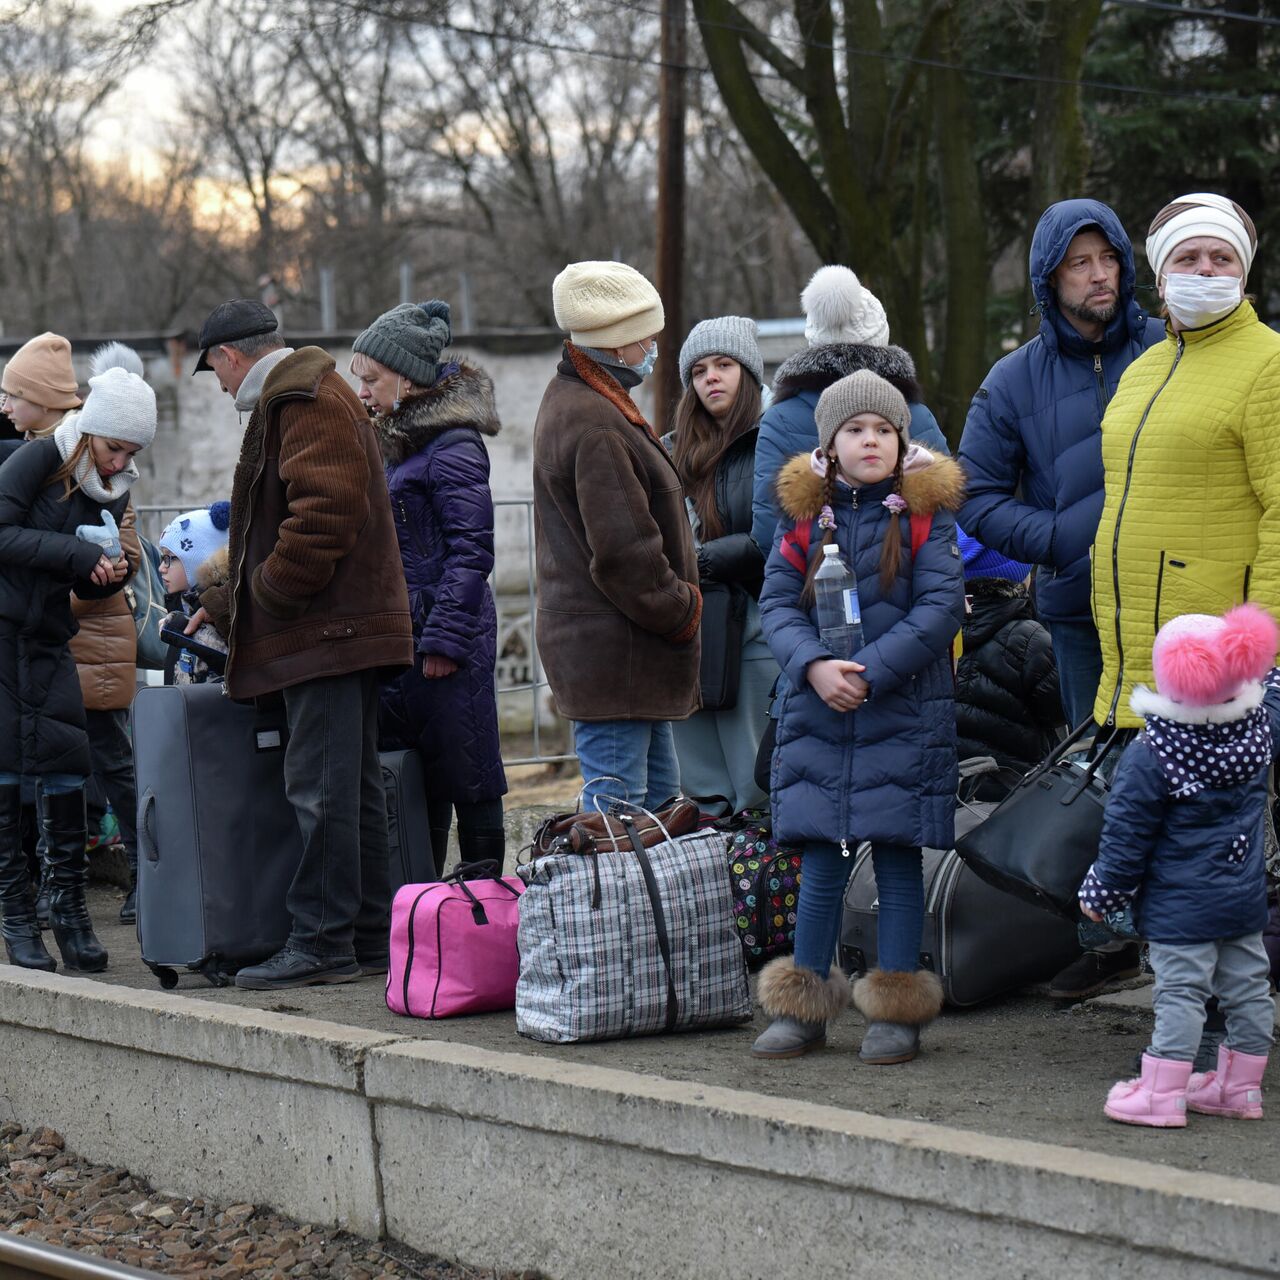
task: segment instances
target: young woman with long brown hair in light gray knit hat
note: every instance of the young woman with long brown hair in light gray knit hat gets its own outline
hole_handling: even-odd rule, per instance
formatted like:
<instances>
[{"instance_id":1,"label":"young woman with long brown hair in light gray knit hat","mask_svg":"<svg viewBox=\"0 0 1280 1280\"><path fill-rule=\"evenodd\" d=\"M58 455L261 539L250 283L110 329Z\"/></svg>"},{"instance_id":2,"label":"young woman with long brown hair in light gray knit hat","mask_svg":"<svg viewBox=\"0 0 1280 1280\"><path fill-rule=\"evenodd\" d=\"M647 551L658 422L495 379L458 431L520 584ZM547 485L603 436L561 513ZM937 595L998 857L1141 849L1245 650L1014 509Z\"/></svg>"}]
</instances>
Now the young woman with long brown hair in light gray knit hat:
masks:
<instances>
[{"instance_id":1,"label":"young woman with long brown hair in light gray knit hat","mask_svg":"<svg viewBox=\"0 0 1280 1280\"><path fill-rule=\"evenodd\" d=\"M751 541L763 378L754 320L695 325L680 349L676 428L663 442L685 488L703 591L703 709L673 724L680 785L691 796L724 796L732 813L767 803L755 756L778 675L756 604L764 556Z\"/></svg>"}]
</instances>

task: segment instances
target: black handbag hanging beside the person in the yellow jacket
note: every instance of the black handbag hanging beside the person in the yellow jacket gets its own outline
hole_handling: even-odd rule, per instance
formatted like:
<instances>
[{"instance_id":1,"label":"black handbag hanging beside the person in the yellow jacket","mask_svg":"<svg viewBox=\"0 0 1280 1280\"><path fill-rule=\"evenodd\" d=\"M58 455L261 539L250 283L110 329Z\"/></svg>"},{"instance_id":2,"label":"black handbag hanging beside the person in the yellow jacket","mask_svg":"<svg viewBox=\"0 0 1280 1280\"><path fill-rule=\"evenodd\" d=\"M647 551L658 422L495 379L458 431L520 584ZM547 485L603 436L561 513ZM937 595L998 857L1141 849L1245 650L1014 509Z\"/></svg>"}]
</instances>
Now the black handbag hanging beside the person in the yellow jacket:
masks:
<instances>
[{"instance_id":1,"label":"black handbag hanging beside the person in the yellow jacket","mask_svg":"<svg viewBox=\"0 0 1280 1280\"><path fill-rule=\"evenodd\" d=\"M1068 759L1094 728L1093 721L1080 724L986 822L956 838L956 852L988 884L1073 920L1080 919L1076 893L1102 838L1108 783L1100 769L1126 737L1112 732L1094 740L1087 760Z\"/></svg>"}]
</instances>

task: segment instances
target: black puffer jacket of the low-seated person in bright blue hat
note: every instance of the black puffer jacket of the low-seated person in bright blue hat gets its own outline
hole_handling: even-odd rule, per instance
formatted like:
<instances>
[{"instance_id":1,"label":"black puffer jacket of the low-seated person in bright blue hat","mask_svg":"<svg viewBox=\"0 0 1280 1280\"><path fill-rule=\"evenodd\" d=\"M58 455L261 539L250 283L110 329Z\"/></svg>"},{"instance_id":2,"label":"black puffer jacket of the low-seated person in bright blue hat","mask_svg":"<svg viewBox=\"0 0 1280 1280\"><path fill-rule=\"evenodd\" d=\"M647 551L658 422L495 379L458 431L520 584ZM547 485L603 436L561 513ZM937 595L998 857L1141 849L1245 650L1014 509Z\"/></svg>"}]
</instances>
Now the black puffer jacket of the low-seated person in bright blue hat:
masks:
<instances>
[{"instance_id":1,"label":"black puffer jacket of the low-seated person in bright blue hat","mask_svg":"<svg viewBox=\"0 0 1280 1280\"><path fill-rule=\"evenodd\" d=\"M993 755L1025 772L1048 754L1064 718L1048 631L1015 582L974 579L968 591L973 612L956 664L960 758Z\"/></svg>"}]
</instances>

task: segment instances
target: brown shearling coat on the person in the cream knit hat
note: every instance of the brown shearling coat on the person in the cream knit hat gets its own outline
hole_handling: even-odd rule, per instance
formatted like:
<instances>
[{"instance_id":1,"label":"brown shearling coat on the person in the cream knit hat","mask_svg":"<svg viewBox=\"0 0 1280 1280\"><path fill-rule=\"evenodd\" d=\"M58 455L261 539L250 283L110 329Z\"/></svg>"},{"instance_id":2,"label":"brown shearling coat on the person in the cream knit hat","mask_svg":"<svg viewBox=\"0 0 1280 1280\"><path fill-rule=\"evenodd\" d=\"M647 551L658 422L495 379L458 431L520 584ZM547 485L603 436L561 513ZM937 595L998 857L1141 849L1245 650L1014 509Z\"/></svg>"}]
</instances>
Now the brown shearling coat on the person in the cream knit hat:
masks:
<instances>
[{"instance_id":1,"label":"brown shearling coat on the person in the cream knit hat","mask_svg":"<svg viewBox=\"0 0 1280 1280\"><path fill-rule=\"evenodd\" d=\"M699 708L701 594L685 494L631 397L572 343L534 428L538 652L563 716Z\"/></svg>"}]
</instances>

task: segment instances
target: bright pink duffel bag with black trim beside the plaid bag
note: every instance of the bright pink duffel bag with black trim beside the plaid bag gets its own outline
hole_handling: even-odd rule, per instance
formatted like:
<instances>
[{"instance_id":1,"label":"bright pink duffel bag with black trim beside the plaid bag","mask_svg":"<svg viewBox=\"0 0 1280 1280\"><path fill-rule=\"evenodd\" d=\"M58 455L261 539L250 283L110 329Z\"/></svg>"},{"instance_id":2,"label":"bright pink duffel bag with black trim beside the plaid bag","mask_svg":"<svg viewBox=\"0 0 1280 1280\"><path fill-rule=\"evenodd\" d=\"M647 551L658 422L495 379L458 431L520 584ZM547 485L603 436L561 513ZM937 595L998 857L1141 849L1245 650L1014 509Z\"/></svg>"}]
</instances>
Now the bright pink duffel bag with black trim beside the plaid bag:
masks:
<instances>
[{"instance_id":1,"label":"bright pink duffel bag with black trim beside the plaid bag","mask_svg":"<svg viewBox=\"0 0 1280 1280\"><path fill-rule=\"evenodd\" d=\"M520 895L498 864L470 863L431 884L403 884L392 902L387 1007L454 1018L516 1007Z\"/></svg>"}]
</instances>

